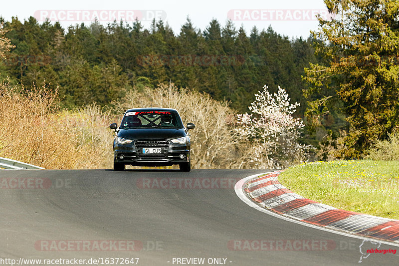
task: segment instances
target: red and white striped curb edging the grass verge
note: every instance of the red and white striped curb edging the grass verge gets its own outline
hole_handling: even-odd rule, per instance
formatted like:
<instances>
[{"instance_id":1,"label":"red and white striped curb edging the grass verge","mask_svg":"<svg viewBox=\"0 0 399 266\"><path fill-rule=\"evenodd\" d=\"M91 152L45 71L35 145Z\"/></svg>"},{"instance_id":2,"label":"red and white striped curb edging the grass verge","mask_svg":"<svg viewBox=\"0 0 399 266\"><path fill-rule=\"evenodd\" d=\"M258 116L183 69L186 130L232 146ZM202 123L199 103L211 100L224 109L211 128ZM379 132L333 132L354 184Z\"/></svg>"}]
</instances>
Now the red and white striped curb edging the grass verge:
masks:
<instances>
[{"instance_id":1,"label":"red and white striped curb edging the grass verge","mask_svg":"<svg viewBox=\"0 0 399 266\"><path fill-rule=\"evenodd\" d=\"M279 183L277 177L281 172L243 179L236 184L236 193L238 195L237 189L241 187L258 205L307 224L350 235L399 243L399 220L338 210L305 199Z\"/></svg>"}]
</instances>

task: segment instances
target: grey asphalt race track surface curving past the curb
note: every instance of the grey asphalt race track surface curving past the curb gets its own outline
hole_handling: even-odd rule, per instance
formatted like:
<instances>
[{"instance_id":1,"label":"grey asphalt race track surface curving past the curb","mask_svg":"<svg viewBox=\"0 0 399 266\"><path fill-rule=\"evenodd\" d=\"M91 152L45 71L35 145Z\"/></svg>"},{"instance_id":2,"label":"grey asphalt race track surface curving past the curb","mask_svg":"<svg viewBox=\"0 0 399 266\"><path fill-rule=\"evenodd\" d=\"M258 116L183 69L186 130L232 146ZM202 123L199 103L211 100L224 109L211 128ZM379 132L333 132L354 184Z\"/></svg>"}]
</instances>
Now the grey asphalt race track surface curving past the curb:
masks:
<instances>
[{"instance_id":1,"label":"grey asphalt race track surface curving past the curb","mask_svg":"<svg viewBox=\"0 0 399 266\"><path fill-rule=\"evenodd\" d=\"M284 221L241 201L232 184L264 172L1 170L0 256L76 258L85 265L90 258L103 264L114 258L114 265L122 265L117 258L139 258L145 266L359 265L362 240ZM362 248L376 246L366 241ZM398 264L399 253L387 253L370 254L361 265Z\"/></svg>"}]
</instances>

